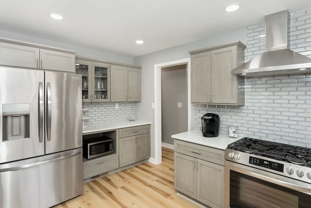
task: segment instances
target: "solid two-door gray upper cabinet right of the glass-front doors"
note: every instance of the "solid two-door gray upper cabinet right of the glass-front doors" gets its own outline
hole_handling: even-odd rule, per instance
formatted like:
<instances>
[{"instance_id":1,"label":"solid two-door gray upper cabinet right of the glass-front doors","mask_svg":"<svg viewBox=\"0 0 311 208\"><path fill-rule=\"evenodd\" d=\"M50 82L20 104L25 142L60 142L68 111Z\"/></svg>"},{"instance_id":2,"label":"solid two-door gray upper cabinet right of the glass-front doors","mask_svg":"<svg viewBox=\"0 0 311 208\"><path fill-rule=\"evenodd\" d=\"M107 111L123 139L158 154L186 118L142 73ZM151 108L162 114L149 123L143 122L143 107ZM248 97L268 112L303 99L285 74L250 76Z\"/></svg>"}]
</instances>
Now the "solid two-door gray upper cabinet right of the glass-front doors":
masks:
<instances>
[{"instance_id":1,"label":"solid two-door gray upper cabinet right of the glass-front doors","mask_svg":"<svg viewBox=\"0 0 311 208\"><path fill-rule=\"evenodd\" d=\"M141 69L111 65L111 102L141 100Z\"/></svg>"}]
</instances>

